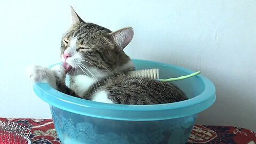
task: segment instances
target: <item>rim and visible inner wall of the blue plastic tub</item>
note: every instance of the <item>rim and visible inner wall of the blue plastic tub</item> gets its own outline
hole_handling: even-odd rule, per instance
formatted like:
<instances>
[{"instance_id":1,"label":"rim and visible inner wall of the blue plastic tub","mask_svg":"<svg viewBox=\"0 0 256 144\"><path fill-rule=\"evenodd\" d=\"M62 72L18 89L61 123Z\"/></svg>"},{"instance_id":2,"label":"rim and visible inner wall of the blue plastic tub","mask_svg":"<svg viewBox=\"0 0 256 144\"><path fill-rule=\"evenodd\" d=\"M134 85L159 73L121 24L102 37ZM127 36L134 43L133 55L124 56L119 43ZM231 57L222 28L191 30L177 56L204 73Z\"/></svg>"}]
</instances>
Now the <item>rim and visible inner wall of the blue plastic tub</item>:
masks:
<instances>
[{"instance_id":1,"label":"rim and visible inner wall of the blue plastic tub","mask_svg":"<svg viewBox=\"0 0 256 144\"><path fill-rule=\"evenodd\" d=\"M194 73L165 63L146 60L133 60L133 62L136 69L159 68L159 76L163 79ZM215 101L214 85L201 74L172 83L177 85L189 99L161 105L118 105L70 97L52 89L46 83L35 84L34 90L39 98L50 105L71 113L129 121L154 121L189 116L205 110Z\"/></svg>"}]
</instances>

